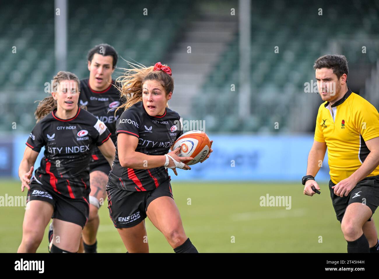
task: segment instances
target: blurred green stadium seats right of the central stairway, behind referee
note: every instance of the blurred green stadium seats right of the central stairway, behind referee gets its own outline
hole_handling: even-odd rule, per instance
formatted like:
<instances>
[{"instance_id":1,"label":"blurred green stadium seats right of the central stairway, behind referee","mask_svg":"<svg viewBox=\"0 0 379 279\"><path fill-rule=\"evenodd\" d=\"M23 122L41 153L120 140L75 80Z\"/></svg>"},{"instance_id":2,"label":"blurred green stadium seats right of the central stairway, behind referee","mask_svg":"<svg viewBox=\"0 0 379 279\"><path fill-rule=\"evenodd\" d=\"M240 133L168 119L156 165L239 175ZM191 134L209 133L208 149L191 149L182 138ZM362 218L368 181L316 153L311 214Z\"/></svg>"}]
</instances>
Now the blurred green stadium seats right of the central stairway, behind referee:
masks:
<instances>
[{"instance_id":1,"label":"blurred green stadium seats right of the central stairway, behind referee","mask_svg":"<svg viewBox=\"0 0 379 279\"><path fill-rule=\"evenodd\" d=\"M238 34L209 74L202 90L192 99L194 111L188 117L215 119L207 125L207 130L213 132L314 129L312 117L308 121L298 121L297 125L291 124L298 115L309 115L309 107L296 107L296 103L304 104L309 98L304 93L304 83L316 81L312 68L316 58L326 53L345 54L352 66L358 63L375 65L379 57L378 7L374 9L367 1L351 0L338 6L337 13L328 3L274 1L268 8L267 3L252 2L251 117L238 117ZM351 6L356 6L357 11L349 8ZM318 15L320 7L323 7L323 16ZM338 20L337 15L343 15L343 20ZM363 45L368 45L370 54L362 55ZM275 46L279 46L279 53L274 53ZM231 84L235 84L236 91L230 90ZM217 98L217 105L204 98ZM316 102L314 107L318 107L319 96L313 96L312 101ZM268 114L271 116L267 117ZM220 119L225 120L222 125L217 121ZM279 130L274 129L275 122L280 123Z\"/></svg>"}]
</instances>

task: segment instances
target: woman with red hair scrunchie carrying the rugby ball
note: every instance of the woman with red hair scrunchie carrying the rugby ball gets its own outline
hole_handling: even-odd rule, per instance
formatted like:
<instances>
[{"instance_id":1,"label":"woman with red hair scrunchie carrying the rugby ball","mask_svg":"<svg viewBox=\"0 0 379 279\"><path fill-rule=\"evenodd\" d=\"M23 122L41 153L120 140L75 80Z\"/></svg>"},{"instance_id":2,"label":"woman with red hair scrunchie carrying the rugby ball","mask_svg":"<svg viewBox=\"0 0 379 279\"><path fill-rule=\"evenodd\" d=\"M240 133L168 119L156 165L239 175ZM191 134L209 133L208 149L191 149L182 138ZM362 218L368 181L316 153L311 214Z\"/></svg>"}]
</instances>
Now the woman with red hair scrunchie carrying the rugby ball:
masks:
<instances>
[{"instance_id":1,"label":"woman with red hair scrunchie carrying the rugby ball","mask_svg":"<svg viewBox=\"0 0 379 279\"><path fill-rule=\"evenodd\" d=\"M149 217L175 252L197 253L184 232L165 168L177 175L175 167L190 170L182 161L193 159L179 157L180 147L168 153L183 133L175 127L179 114L167 105L174 90L171 69L160 62L135 65L116 81L126 102L118 108L125 111L116 123L116 156L106 187L110 218L128 252L149 252L144 222Z\"/></svg>"}]
</instances>

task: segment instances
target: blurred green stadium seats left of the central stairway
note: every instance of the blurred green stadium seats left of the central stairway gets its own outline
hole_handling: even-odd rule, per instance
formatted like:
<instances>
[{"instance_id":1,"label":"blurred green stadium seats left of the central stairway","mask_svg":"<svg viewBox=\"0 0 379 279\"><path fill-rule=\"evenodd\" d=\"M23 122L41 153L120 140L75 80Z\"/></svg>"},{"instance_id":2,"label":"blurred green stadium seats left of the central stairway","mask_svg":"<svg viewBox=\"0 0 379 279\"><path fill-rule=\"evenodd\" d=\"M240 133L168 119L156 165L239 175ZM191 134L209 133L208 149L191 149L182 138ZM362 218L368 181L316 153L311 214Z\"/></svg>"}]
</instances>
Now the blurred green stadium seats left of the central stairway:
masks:
<instances>
[{"instance_id":1,"label":"blurred green stadium seats left of the central stairway","mask_svg":"<svg viewBox=\"0 0 379 279\"><path fill-rule=\"evenodd\" d=\"M108 43L119 54L119 67L128 61L152 65L164 61L168 50L191 15L191 2L174 0L125 2L108 0L93 5L90 0L68 1L67 69L80 79L89 75L87 52L96 44ZM144 8L147 9L145 16ZM17 132L33 128L35 100L47 93L45 82L56 74L54 55L54 1L31 0L2 4L0 50L5 53L0 63L0 104L4 117L0 131ZM106 16L104 16L106 15ZM16 46L16 53L12 47ZM60 69L58 69L60 70ZM113 77L121 71L115 70ZM17 111L14 109L17 108ZM20 114L19 111L22 113Z\"/></svg>"}]
</instances>

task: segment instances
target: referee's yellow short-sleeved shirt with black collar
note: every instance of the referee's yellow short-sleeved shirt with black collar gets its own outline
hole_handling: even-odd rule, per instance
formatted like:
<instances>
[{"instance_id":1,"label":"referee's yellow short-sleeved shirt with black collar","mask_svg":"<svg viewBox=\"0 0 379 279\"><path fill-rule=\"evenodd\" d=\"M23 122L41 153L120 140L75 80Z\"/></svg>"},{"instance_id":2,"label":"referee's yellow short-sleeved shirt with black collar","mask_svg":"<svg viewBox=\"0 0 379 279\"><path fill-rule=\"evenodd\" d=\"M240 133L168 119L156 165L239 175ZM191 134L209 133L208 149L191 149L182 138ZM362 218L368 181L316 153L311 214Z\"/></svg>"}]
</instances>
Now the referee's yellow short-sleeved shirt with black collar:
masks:
<instances>
[{"instance_id":1,"label":"referee's yellow short-sleeved shirt with black collar","mask_svg":"<svg viewBox=\"0 0 379 279\"><path fill-rule=\"evenodd\" d=\"M328 148L330 179L337 184L348 178L365 161L365 141L379 137L379 114L370 102L350 89L330 106L324 102L318 109L315 140ZM379 175L379 167L368 176Z\"/></svg>"}]
</instances>

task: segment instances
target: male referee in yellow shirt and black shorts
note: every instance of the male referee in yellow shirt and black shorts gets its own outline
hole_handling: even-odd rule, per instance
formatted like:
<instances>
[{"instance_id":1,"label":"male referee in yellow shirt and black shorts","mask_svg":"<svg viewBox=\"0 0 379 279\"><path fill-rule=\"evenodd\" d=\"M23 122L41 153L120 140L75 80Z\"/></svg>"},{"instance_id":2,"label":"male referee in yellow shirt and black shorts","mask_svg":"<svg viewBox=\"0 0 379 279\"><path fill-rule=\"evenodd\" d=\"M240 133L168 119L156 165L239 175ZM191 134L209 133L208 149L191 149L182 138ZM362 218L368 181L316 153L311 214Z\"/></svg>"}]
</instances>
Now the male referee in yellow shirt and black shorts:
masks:
<instances>
[{"instance_id":1,"label":"male referee in yellow shirt and black shorts","mask_svg":"<svg viewBox=\"0 0 379 279\"><path fill-rule=\"evenodd\" d=\"M304 194L314 195L312 186L320 190L314 177L328 148L330 197L348 253L378 253L371 216L379 205L379 114L347 87L345 56L324 55L313 68L325 102L318 109L307 175L302 178Z\"/></svg>"}]
</instances>

